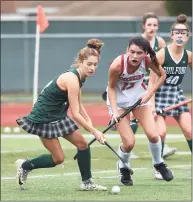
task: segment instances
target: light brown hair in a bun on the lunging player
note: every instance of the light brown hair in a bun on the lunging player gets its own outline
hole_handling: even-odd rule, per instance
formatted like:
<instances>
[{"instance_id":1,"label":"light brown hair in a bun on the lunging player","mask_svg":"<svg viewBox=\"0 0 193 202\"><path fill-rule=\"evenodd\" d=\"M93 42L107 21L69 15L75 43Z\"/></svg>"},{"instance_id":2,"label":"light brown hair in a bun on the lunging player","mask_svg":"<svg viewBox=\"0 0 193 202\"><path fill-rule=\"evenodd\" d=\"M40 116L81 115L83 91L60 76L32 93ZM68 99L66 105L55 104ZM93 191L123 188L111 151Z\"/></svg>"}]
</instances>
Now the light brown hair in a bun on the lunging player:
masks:
<instances>
[{"instance_id":1,"label":"light brown hair in a bun on the lunging player","mask_svg":"<svg viewBox=\"0 0 193 202\"><path fill-rule=\"evenodd\" d=\"M78 63L83 62L83 60L86 60L89 56L97 56L99 58L100 49L103 44L104 43L99 39L88 40L87 46L79 51L72 66L78 66Z\"/></svg>"}]
</instances>

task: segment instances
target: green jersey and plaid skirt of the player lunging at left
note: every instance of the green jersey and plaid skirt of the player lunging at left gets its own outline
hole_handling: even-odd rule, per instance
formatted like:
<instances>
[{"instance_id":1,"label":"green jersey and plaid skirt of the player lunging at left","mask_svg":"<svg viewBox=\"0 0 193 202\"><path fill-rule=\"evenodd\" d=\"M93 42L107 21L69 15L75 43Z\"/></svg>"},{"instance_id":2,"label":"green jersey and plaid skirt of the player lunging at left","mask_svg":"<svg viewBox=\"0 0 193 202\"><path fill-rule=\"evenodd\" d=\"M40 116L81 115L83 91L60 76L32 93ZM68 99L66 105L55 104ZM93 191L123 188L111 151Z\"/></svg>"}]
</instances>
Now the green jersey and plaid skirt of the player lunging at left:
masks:
<instances>
[{"instance_id":1,"label":"green jersey and plaid skirt of the player lunging at left","mask_svg":"<svg viewBox=\"0 0 193 202\"><path fill-rule=\"evenodd\" d=\"M78 71L69 69L66 72L72 72L78 77L81 88L84 81L81 81ZM59 89L57 79L44 87L30 114L16 120L26 132L44 138L57 138L78 129L67 115L68 93Z\"/></svg>"}]
</instances>

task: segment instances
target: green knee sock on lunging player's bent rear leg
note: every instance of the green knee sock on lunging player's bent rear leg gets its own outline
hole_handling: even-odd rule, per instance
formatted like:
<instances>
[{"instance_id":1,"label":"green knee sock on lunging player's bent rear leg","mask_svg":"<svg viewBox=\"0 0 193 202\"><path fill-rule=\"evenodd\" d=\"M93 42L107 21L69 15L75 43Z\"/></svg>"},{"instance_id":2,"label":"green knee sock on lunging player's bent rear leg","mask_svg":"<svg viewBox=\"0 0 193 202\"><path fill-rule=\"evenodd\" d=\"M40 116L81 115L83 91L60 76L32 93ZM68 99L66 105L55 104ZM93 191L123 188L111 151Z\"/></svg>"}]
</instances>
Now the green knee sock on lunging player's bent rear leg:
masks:
<instances>
[{"instance_id":1,"label":"green knee sock on lunging player's bent rear leg","mask_svg":"<svg viewBox=\"0 0 193 202\"><path fill-rule=\"evenodd\" d=\"M51 154L43 154L34 159L27 160L22 164L22 168L25 170L33 170L37 168L51 168L55 166L56 163L53 161Z\"/></svg>"}]
</instances>

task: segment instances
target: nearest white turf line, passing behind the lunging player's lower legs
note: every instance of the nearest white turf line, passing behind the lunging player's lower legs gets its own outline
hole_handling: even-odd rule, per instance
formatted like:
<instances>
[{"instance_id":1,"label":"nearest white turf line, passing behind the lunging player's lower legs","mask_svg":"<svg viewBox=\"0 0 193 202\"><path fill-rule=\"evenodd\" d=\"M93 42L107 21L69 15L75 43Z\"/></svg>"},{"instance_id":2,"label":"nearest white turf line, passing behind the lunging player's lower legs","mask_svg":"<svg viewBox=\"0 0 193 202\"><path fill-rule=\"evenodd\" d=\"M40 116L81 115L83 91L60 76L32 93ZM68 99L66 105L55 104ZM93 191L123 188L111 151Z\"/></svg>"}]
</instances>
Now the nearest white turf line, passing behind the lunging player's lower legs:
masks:
<instances>
[{"instance_id":1,"label":"nearest white turf line, passing behind the lunging player's lower legs","mask_svg":"<svg viewBox=\"0 0 193 202\"><path fill-rule=\"evenodd\" d=\"M191 165L177 165L177 166L170 166L170 168L181 168L181 169L191 169ZM147 170L149 168L133 168L133 170ZM94 174L103 174L103 173L114 173L117 172L117 170L102 170L102 171L93 171ZM73 172L73 173L63 173L63 174L51 174L51 175L34 175L34 176L28 176L29 179L37 179L37 178L49 178L49 177L61 177L61 176L75 176L80 175L79 172ZM95 176L93 176L95 177ZM116 178L117 176L106 176L106 177L97 177L97 178ZM1 177L1 180L15 180L16 177Z\"/></svg>"}]
</instances>

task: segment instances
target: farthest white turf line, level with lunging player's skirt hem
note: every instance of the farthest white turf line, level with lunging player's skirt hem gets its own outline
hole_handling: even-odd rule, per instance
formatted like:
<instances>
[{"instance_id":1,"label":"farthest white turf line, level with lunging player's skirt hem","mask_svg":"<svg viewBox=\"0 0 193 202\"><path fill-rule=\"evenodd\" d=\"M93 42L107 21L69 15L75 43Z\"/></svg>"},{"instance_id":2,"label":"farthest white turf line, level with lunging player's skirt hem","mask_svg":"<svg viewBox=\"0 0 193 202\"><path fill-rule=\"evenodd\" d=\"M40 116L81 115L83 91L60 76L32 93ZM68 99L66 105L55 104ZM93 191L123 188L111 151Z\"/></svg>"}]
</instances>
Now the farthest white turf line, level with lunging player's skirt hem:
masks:
<instances>
[{"instance_id":1,"label":"farthest white turf line, level with lunging player's skirt hem","mask_svg":"<svg viewBox=\"0 0 193 202\"><path fill-rule=\"evenodd\" d=\"M84 137L93 138L94 136L91 134L83 134ZM120 138L117 134L107 133L105 137L108 139L117 139ZM147 138L144 134L136 134L135 137L137 139ZM1 139L37 139L39 138L37 135L29 135L29 134L1 134ZM183 134L167 134L167 139L181 139L184 138Z\"/></svg>"}]
</instances>

